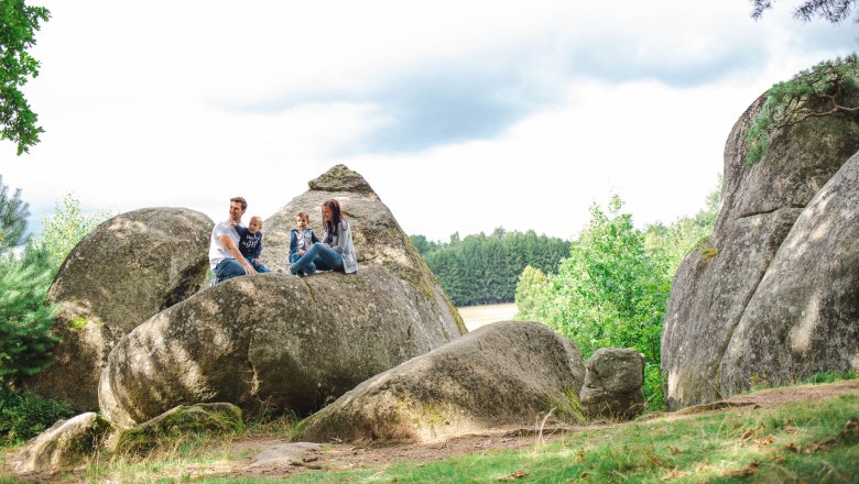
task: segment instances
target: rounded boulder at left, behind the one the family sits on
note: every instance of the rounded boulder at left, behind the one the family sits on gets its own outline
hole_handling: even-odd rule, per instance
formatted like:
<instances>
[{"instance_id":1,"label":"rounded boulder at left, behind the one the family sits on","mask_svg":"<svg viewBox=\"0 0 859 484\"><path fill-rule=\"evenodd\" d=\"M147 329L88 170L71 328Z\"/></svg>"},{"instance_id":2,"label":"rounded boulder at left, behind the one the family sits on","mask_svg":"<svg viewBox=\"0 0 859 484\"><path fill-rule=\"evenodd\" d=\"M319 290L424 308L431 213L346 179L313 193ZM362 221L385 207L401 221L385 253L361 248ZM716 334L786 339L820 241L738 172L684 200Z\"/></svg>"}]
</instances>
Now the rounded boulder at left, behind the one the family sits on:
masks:
<instances>
[{"instance_id":1,"label":"rounded boulder at left, behind the one the family sits on","mask_svg":"<svg viewBox=\"0 0 859 484\"><path fill-rule=\"evenodd\" d=\"M98 408L98 378L126 333L199 289L213 222L184 208L116 216L66 257L48 292L58 304L54 364L25 382L78 409Z\"/></svg>"}]
</instances>

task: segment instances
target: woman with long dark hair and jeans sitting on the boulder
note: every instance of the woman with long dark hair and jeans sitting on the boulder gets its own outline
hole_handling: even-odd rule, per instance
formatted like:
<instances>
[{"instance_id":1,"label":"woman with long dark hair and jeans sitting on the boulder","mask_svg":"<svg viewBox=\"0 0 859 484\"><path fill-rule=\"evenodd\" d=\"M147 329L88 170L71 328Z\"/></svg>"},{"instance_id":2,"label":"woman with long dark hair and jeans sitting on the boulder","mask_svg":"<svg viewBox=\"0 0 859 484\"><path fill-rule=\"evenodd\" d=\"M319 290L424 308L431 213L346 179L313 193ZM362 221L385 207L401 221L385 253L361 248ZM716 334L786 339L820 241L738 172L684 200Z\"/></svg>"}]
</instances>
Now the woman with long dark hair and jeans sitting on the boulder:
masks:
<instances>
[{"instance_id":1,"label":"woman with long dark hair and jeans sitting on the boulder","mask_svg":"<svg viewBox=\"0 0 859 484\"><path fill-rule=\"evenodd\" d=\"M322 205L323 222L325 222L325 235L322 242L311 245L297 261L290 265L290 272L297 275L305 271L311 263L316 268L340 271L351 274L358 271L358 258L352 245L352 230L349 222L342 218L340 202L330 198Z\"/></svg>"}]
</instances>

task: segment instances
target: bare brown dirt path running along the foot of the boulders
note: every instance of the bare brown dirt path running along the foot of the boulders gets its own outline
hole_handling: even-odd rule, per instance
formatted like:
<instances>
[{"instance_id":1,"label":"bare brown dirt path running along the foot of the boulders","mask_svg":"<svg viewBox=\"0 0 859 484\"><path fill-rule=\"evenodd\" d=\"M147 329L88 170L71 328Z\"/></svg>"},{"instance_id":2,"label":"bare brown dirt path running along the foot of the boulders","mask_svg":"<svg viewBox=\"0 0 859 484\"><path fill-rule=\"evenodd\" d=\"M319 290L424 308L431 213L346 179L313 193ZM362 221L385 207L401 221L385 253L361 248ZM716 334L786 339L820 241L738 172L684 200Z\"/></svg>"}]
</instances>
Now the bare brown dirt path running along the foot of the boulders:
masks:
<instances>
[{"instance_id":1,"label":"bare brown dirt path running along the foot of the boulders","mask_svg":"<svg viewBox=\"0 0 859 484\"><path fill-rule=\"evenodd\" d=\"M691 407L671 414L651 414L645 420L679 419L704 413L730 411L737 407L755 406L772 408L797 402L820 402L838 395L859 395L859 380L827 385L807 385L772 388L751 395L739 395L726 402ZM331 442L328 444L290 443L285 439L264 437L235 441L219 449L224 454L248 455L240 461L208 462L198 469L183 469L185 476L203 477L283 477L314 470L340 471L363 468L384 468L396 462L424 463L456 455L491 450L511 450L532 447L541 441L552 441L570 433L600 428L615 428L627 424L589 424L587 426L555 427L537 432L535 428L503 428L481 435L467 436L430 444L360 446ZM28 476L32 482L52 482L59 476ZM78 477L78 479L76 479ZM84 482L83 475L66 475L62 482ZM161 477L180 477L162 475ZM59 482L56 481L56 482Z\"/></svg>"}]
</instances>

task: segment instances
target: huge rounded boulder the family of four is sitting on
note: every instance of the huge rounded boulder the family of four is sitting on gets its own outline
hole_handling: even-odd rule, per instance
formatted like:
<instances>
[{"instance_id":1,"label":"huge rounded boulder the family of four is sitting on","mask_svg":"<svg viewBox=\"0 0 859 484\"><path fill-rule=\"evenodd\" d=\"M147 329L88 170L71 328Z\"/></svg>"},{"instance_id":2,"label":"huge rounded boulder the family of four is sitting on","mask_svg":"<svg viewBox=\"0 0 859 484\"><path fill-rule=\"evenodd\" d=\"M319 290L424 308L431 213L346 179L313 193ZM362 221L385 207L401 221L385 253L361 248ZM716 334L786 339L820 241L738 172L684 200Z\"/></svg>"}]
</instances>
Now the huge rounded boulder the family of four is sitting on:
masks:
<instances>
[{"instance_id":1,"label":"huge rounded boulder the family of four is sitting on","mask_svg":"<svg viewBox=\"0 0 859 484\"><path fill-rule=\"evenodd\" d=\"M381 265L229 279L116 345L99 385L101 411L121 428L205 402L309 413L459 338L447 311Z\"/></svg>"}]
</instances>

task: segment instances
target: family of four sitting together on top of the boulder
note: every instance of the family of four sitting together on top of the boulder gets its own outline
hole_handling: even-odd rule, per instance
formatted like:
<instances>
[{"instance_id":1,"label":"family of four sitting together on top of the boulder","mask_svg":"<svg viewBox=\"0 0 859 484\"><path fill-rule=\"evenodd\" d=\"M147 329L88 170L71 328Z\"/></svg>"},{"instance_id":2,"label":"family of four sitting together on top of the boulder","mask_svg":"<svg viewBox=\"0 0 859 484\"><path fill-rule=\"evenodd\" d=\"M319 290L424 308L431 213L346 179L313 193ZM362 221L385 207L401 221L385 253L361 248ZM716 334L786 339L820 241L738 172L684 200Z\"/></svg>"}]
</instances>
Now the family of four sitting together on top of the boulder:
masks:
<instances>
[{"instance_id":1,"label":"family of four sitting together on top of the boulder","mask_svg":"<svg viewBox=\"0 0 859 484\"><path fill-rule=\"evenodd\" d=\"M229 218L211 230L209 264L215 274L213 285L232 277L267 273L262 264L262 219L251 217L249 226L241 224L248 208L242 197L230 199ZM309 228L309 216L300 211L296 228L290 232L290 268L295 276L313 275L317 270L351 274L358 271L349 222L342 217L340 204L328 199L322 205L325 233L322 242Z\"/></svg>"}]
</instances>

